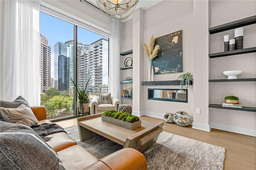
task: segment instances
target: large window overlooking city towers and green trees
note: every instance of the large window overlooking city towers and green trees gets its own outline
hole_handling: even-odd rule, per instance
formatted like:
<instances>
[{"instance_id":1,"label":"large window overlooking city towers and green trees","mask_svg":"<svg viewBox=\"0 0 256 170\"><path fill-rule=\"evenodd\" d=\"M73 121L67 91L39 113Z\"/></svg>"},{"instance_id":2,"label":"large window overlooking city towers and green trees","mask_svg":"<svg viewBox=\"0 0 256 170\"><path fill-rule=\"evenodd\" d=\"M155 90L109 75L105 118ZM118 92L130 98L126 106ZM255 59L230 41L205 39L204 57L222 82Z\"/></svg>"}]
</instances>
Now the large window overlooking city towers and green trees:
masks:
<instances>
[{"instance_id":1,"label":"large window overlooking city towers and green trees","mask_svg":"<svg viewBox=\"0 0 256 170\"><path fill-rule=\"evenodd\" d=\"M102 88L106 89L108 38L43 12L40 12L40 34L41 105L46 106L48 119L76 115L78 104L71 79L76 79L83 89L91 77L90 99Z\"/></svg>"}]
</instances>

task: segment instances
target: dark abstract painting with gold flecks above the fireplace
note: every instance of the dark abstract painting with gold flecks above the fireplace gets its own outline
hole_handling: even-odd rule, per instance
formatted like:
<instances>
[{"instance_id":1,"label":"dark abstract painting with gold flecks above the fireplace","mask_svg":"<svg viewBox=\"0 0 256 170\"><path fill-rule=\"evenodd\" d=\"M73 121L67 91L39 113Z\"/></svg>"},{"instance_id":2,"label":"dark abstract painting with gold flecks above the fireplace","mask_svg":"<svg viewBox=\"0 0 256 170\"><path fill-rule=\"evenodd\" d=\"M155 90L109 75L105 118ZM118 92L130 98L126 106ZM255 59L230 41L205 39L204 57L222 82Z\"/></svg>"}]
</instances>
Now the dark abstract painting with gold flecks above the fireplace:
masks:
<instances>
[{"instance_id":1,"label":"dark abstract painting with gold flecks above the fireplace","mask_svg":"<svg viewBox=\"0 0 256 170\"><path fill-rule=\"evenodd\" d=\"M182 69L182 30L156 38L158 55L151 60L154 74L180 73Z\"/></svg>"}]
</instances>

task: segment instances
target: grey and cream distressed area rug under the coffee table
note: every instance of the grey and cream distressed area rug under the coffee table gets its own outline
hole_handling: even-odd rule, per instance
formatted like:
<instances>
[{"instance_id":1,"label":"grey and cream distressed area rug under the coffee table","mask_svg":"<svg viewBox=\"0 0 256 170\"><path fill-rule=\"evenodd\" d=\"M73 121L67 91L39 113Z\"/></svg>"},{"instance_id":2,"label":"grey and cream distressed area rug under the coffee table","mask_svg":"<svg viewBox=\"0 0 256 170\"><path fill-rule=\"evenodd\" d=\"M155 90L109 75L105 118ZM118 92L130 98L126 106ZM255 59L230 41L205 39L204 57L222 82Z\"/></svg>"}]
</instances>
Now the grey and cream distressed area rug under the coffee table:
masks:
<instances>
[{"instance_id":1,"label":"grey and cream distressed area rug under the coffee table","mask_svg":"<svg viewBox=\"0 0 256 170\"><path fill-rule=\"evenodd\" d=\"M123 148L102 136L80 142L77 126L64 129L80 146L99 159ZM143 154L148 170L221 170L225 148L162 132L157 142Z\"/></svg>"}]
</instances>

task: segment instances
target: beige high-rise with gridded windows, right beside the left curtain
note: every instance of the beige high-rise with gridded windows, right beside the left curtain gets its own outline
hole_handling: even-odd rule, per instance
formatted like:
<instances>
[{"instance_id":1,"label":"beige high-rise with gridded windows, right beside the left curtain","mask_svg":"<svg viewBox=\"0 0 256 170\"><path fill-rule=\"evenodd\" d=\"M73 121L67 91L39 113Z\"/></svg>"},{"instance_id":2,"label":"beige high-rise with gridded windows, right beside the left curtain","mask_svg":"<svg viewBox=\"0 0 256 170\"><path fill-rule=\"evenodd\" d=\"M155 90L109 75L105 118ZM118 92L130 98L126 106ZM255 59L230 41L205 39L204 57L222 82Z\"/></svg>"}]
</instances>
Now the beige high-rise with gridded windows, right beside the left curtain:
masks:
<instances>
[{"instance_id":1,"label":"beige high-rise with gridded windows, right beside the left curtain","mask_svg":"<svg viewBox=\"0 0 256 170\"><path fill-rule=\"evenodd\" d=\"M51 47L48 40L40 34L40 77L41 93L51 88Z\"/></svg>"}]
</instances>

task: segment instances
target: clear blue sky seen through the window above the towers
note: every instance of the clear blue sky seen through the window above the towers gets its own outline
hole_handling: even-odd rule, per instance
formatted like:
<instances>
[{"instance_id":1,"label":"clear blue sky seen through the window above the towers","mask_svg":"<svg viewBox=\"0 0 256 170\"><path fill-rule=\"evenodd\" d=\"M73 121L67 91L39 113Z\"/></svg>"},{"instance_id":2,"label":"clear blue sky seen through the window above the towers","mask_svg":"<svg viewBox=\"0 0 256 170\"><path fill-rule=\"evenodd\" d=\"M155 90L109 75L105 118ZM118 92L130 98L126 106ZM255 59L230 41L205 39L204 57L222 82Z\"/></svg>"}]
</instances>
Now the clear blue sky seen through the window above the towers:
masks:
<instances>
[{"instance_id":1,"label":"clear blue sky seen through the window above the towers","mask_svg":"<svg viewBox=\"0 0 256 170\"><path fill-rule=\"evenodd\" d=\"M60 20L43 12L40 12L40 34L48 40L51 46L51 77L54 72L54 45L57 42L65 43L74 40L74 25L66 21ZM90 44L101 38L105 38L99 34L78 27L78 42Z\"/></svg>"}]
</instances>

